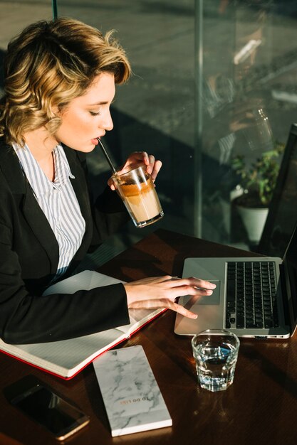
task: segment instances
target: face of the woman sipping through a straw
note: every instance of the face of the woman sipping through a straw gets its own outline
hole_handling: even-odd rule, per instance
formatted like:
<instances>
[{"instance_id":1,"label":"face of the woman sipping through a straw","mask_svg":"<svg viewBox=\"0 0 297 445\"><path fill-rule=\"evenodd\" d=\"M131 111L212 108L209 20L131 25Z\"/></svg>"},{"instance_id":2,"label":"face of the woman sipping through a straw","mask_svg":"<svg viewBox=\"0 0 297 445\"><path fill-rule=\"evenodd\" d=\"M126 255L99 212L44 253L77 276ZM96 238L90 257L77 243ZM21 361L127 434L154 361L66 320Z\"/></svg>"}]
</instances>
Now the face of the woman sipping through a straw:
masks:
<instances>
[{"instance_id":1,"label":"face of the woman sipping through a straw","mask_svg":"<svg viewBox=\"0 0 297 445\"><path fill-rule=\"evenodd\" d=\"M62 124L55 137L71 149L92 151L96 138L113 129L110 104L115 96L115 77L101 73L95 77L85 95L71 100L61 112Z\"/></svg>"}]
</instances>

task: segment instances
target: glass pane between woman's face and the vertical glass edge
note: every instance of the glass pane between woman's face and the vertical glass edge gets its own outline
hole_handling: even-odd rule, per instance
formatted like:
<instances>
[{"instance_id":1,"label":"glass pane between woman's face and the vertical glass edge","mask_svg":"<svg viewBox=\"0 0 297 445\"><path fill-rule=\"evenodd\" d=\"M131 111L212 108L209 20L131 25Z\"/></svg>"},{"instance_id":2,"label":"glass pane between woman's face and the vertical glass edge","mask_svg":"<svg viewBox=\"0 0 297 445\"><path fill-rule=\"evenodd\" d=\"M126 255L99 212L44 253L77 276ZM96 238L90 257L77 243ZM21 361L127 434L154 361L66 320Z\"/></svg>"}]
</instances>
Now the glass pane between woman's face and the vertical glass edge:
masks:
<instances>
[{"instance_id":1,"label":"glass pane between woman's face and the vertical glass edge","mask_svg":"<svg viewBox=\"0 0 297 445\"><path fill-rule=\"evenodd\" d=\"M103 32L115 29L132 63L132 78L118 87L112 106L114 129L103 143L118 166L132 151L144 150L162 160L156 186L165 217L145 229L130 230L141 237L159 227L192 234L194 2L100 0L73 6L73 1L61 0L58 15L78 18ZM100 149L90 158L97 177L103 176L102 170L109 173Z\"/></svg>"}]
</instances>

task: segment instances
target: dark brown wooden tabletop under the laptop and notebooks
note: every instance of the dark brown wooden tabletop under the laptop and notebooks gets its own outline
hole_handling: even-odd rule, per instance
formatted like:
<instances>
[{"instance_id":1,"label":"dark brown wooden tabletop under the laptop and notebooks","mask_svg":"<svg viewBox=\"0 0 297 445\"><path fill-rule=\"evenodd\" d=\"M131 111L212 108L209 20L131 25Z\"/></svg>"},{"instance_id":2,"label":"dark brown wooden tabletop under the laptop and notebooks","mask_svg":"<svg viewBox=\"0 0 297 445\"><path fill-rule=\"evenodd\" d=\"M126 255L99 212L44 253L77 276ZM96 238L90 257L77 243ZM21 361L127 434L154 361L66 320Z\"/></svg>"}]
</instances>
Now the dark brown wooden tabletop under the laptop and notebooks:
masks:
<instances>
[{"instance_id":1,"label":"dark brown wooden tabletop under the laptop and notebooks","mask_svg":"<svg viewBox=\"0 0 297 445\"><path fill-rule=\"evenodd\" d=\"M100 267L100 272L125 281L148 276L181 276L184 258L249 256L249 252L157 230ZM241 340L234 383L218 393L197 384L189 337L173 333L174 313L167 311L142 328L123 347L145 349L165 398L173 426L112 438L89 365L72 380L61 380L0 355L0 444L57 444L50 434L11 407L3 388L33 374L90 415L88 427L67 444L197 445L295 444L297 440L297 338L288 341ZM6 438L4 439L4 435Z\"/></svg>"}]
</instances>

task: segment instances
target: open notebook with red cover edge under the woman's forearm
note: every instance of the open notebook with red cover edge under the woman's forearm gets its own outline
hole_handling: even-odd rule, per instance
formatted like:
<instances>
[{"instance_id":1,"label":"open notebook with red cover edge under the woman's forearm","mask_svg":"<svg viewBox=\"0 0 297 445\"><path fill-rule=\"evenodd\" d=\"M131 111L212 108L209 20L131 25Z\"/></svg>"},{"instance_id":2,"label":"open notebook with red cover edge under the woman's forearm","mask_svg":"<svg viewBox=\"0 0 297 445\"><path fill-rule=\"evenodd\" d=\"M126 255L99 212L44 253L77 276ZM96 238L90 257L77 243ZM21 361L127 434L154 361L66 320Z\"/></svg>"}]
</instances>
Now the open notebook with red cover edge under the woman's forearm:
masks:
<instances>
[{"instance_id":1,"label":"open notebook with red cover edge under the woman's forearm","mask_svg":"<svg viewBox=\"0 0 297 445\"><path fill-rule=\"evenodd\" d=\"M53 284L45 294L55 292L73 294L80 289L93 289L99 286L120 283L120 280L98 272L85 270L73 277ZM89 336L51 343L10 345L0 340L0 351L29 365L64 379L71 379L106 350L127 340L142 326L152 321L166 309L130 309L130 324L108 329Z\"/></svg>"}]
</instances>

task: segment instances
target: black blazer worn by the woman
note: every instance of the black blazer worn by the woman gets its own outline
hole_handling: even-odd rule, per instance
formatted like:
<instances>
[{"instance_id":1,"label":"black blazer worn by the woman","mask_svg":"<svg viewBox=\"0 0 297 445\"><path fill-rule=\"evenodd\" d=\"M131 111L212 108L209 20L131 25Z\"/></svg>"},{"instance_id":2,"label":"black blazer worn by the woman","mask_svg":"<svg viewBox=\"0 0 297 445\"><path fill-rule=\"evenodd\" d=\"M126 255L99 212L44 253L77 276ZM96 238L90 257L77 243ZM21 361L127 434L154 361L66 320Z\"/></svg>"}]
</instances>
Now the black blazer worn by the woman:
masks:
<instances>
[{"instance_id":1,"label":"black blazer worn by the woman","mask_svg":"<svg viewBox=\"0 0 297 445\"><path fill-rule=\"evenodd\" d=\"M106 188L91 204L83 154L64 147L85 235L71 274L91 246L129 219ZM0 337L7 343L56 341L129 323L123 284L73 295L41 296L56 274L58 242L24 176L14 149L0 140Z\"/></svg>"}]
</instances>

